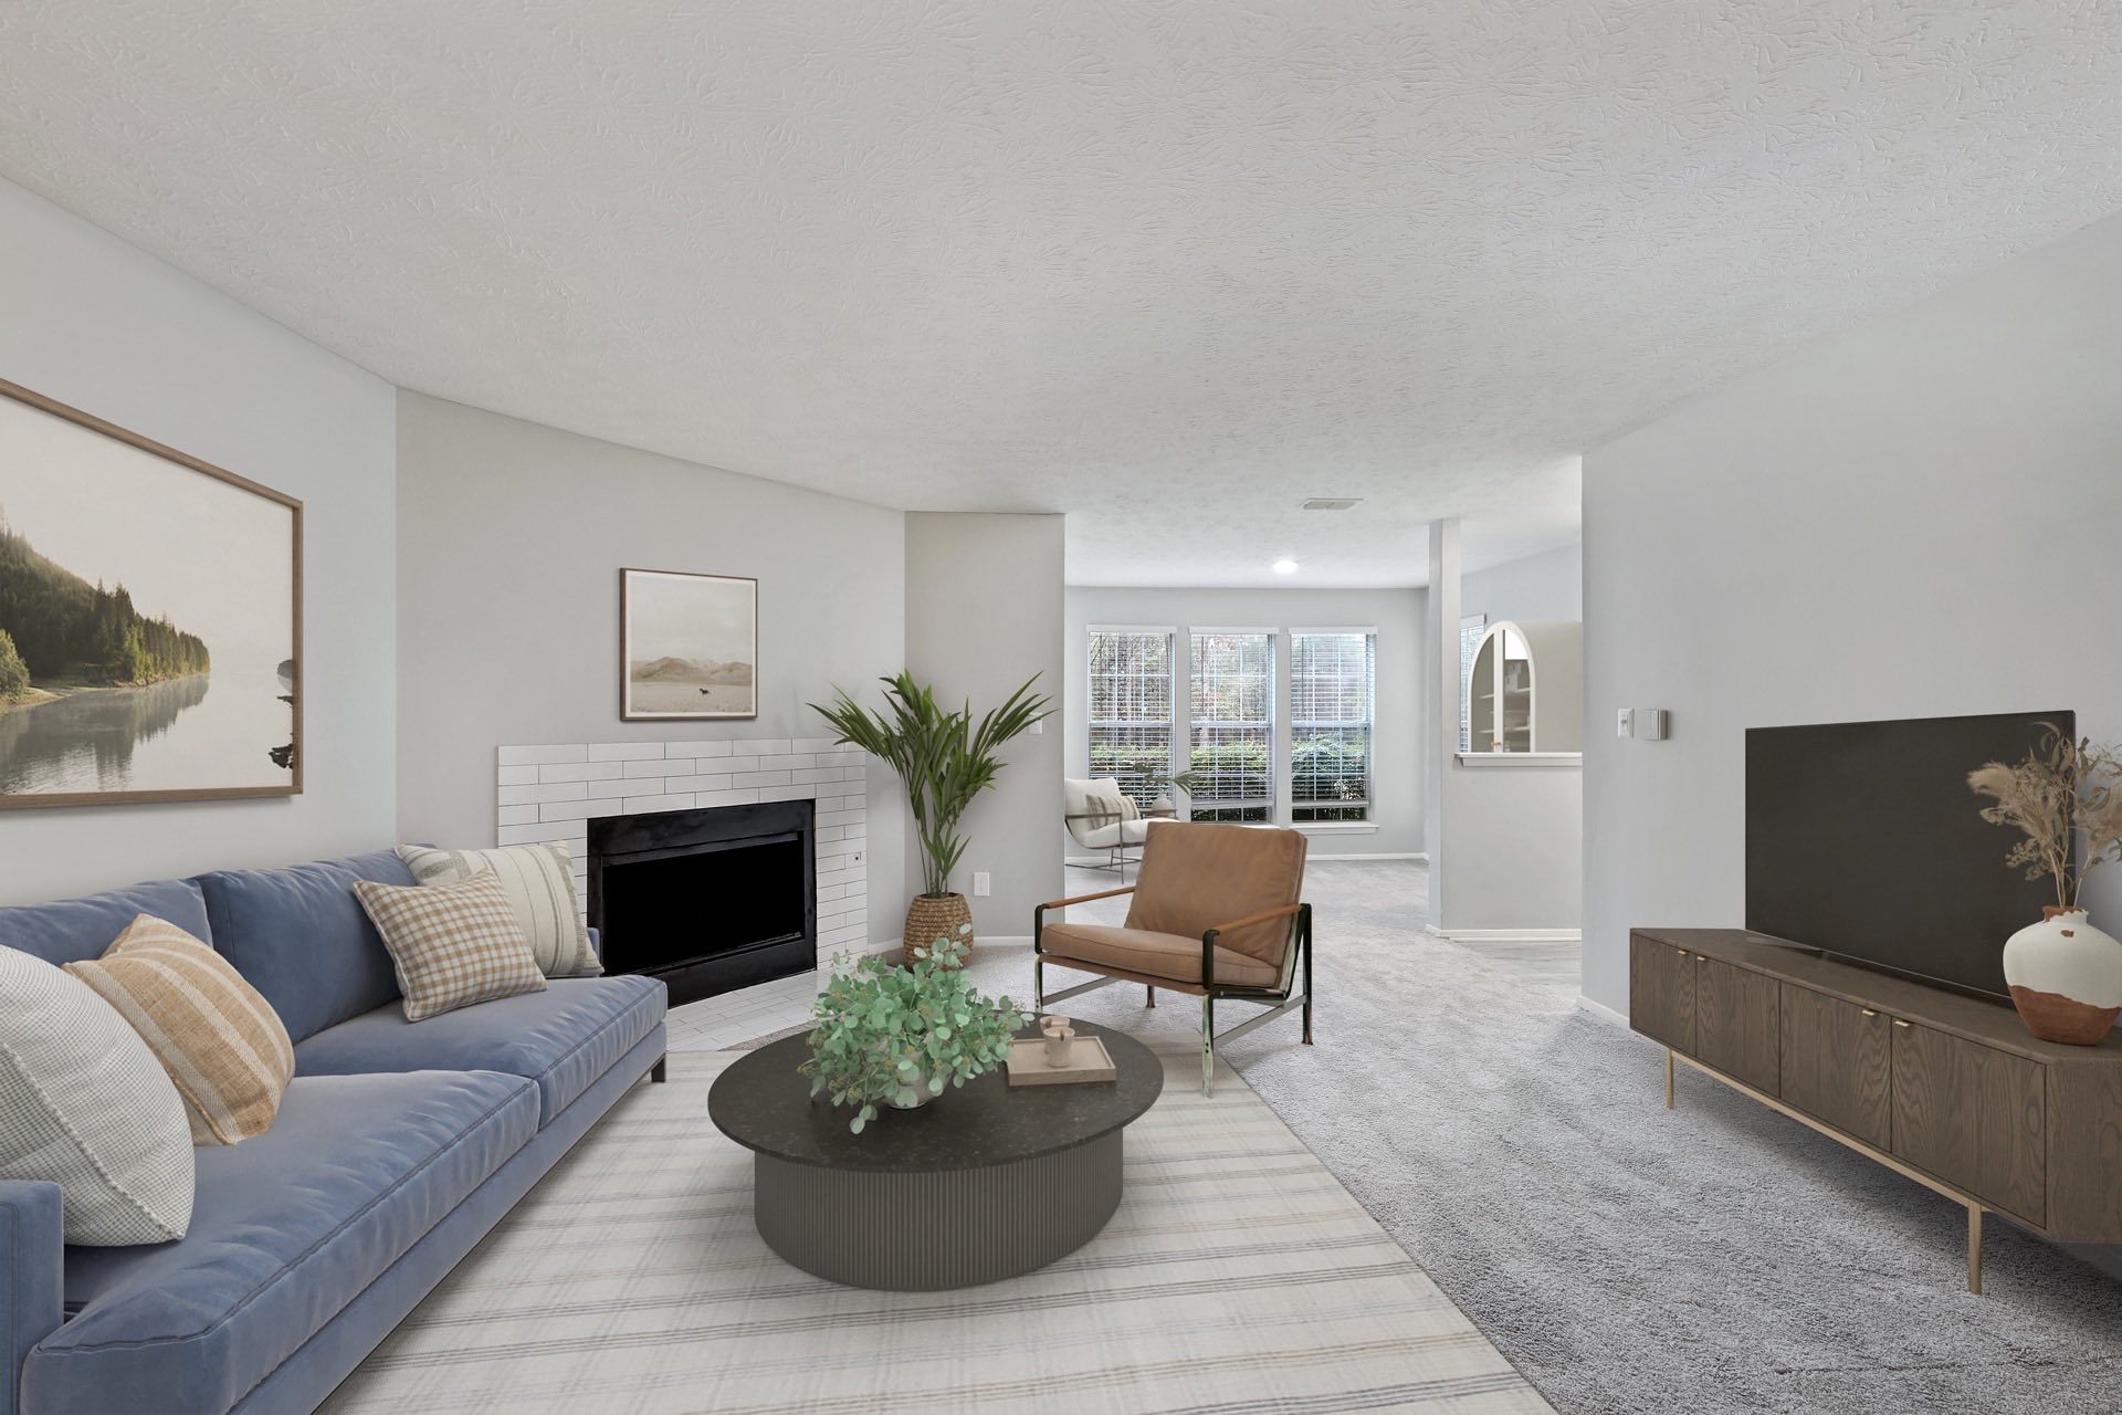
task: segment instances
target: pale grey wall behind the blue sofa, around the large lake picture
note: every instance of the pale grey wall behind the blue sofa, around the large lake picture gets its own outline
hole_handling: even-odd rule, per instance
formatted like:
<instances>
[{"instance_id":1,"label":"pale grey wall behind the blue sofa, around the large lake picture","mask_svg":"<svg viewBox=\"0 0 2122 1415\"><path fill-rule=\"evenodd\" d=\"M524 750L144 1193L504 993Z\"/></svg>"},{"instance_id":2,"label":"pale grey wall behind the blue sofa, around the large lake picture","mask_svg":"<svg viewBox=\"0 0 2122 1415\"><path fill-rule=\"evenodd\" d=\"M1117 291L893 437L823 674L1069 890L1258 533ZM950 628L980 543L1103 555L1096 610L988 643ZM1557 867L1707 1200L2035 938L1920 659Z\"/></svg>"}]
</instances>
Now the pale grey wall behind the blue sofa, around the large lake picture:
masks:
<instances>
[{"instance_id":1,"label":"pale grey wall behind the blue sofa, around the large lake picture","mask_svg":"<svg viewBox=\"0 0 2122 1415\"><path fill-rule=\"evenodd\" d=\"M295 798L0 813L0 904L390 844L390 386L8 182L0 312L0 375L303 501L308 753Z\"/></svg>"}]
</instances>

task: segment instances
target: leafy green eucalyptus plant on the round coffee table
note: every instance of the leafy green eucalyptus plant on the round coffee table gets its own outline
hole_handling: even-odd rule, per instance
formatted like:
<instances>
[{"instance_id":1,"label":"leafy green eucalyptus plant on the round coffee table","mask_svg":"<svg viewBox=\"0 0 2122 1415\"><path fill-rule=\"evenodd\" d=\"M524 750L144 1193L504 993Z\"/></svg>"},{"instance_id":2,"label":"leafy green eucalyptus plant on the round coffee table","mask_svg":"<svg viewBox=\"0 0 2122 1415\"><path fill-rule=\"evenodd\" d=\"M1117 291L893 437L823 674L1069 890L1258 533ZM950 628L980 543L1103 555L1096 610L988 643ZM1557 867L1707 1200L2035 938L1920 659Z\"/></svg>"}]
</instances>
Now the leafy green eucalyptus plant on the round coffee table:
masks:
<instances>
[{"instance_id":1,"label":"leafy green eucalyptus plant on the round coffee table","mask_svg":"<svg viewBox=\"0 0 2122 1415\"><path fill-rule=\"evenodd\" d=\"M879 1105L906 1110L993 1071L1031 1020L1008 997L974 991L963 942L938 938L915 953L912 967L881 953L853 965L834 959L832 982L813 1008L811 1061L796 1069L811 1078L811 1095L830 1093L834 1105L855 1107L847 1122L855 1135Z\"/></svg>"}]
</instances>

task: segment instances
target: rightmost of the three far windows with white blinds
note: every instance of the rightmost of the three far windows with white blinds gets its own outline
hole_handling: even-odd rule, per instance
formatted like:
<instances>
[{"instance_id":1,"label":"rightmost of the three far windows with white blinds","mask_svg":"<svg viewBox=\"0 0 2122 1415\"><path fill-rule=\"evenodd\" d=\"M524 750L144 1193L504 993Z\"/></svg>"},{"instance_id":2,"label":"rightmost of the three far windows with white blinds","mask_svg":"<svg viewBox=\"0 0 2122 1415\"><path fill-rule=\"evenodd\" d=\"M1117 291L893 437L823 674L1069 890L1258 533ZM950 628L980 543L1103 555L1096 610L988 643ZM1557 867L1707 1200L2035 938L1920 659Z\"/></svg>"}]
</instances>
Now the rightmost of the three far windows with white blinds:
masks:
<instances>
[{"instance_id":1,"label":"rightmost of the three far windows with white blinds","mask_svg":"<svg viewBox=\"0 0 2122 1415\"><path fill-rule=\"evenodd\" d=\"M1294 825L1371 819L1377 634L1290 630Z\"/></svg>"}]
</instances>

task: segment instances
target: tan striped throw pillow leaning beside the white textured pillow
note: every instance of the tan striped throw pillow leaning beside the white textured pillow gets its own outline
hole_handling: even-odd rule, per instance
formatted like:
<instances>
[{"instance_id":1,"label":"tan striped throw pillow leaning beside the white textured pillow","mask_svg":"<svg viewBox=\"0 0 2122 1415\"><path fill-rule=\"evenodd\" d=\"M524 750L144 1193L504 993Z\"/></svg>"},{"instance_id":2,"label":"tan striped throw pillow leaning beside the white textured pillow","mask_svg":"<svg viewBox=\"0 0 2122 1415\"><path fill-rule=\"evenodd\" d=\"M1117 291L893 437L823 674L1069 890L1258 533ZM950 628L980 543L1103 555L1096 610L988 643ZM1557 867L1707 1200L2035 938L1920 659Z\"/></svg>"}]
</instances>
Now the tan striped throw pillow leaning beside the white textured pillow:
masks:
<instances>
[{"instance_id":1,"label":"tan striped throw pillow leaning beside the white textured pillow","mask_svg":"<svg viewBox=\"0 0 2122 1415\"><path fill-rule=\"evenodd\" d=\"M104 957L68 963L132 1023L185 1097L191 1143L263 1135L295 1076L286 1027L219 953L174 923L140 914Z\"/></svg>"}]
</instances>

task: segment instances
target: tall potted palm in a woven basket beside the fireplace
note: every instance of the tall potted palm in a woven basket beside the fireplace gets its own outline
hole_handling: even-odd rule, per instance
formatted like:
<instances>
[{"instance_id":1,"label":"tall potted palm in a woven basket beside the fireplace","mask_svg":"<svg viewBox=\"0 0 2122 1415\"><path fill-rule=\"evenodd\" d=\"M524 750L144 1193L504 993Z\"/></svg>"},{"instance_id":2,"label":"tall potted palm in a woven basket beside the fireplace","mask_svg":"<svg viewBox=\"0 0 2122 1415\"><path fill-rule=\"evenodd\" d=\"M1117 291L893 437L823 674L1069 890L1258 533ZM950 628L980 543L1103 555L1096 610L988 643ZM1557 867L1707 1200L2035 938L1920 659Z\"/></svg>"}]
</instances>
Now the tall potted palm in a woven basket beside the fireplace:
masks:
<instances>
[{"instance_id":1,"label":"tall potted palm in a woven basket beside the fireplace","mask_svg":"<svg viewBox=\"0 0 2122 1415\"><path fill-rule=\"evenodd\" d=\"M885 709L874 711L836 687L830 706L811 704L838 740L881 757L906 783L906 804L915 813L915 838L921 844L921 895L906 906L902 940L906 963L938 938L972 944L972 906L951 891L951 872L966 857L966 836L957 829L972 798L995 785L1006 743L1031 730L1031 723L1053 715L1053 698L1033 692L1040 675L1025 679L1008 700L974 721L972 704L944 711L936 692L915 683L900 670L881 679Z\"/></svg>"}]
</instances>

